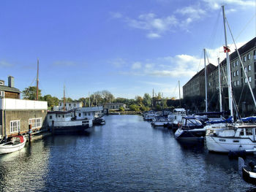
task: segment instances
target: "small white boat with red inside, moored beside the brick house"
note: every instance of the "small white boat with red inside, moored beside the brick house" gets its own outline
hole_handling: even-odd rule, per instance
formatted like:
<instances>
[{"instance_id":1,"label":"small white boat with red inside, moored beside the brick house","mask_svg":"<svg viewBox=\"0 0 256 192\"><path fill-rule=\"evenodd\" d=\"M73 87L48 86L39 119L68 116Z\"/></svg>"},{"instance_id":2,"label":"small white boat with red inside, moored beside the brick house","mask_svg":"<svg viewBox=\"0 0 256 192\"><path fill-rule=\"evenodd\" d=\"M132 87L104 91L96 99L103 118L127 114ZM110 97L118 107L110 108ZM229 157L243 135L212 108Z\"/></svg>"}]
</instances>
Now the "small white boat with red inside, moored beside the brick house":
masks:
<instances>
[{"instance_id":1,"label":"small white boat with red inside, moored beside the brick house","mask_svg":"<svg viewBox=\"0 0 256 192\"><path fill-rule=\"evenodd\" d=\"M21 150L26 145L26 137L17 135L10 137L10 140L0 145L0 154L12 153Z\"/></svg>"}]
</instances>

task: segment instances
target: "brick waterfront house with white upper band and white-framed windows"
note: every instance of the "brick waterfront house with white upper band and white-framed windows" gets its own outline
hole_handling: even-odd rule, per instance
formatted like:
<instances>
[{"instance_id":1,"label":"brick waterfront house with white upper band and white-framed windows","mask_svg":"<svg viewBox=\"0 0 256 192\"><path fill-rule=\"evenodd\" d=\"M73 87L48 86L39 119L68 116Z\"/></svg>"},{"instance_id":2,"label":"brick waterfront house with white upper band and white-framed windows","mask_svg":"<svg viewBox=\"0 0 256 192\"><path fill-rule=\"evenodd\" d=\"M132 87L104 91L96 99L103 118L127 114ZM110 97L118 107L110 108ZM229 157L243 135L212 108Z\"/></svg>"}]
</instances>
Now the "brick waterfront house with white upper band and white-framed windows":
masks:
<instances>
[{"instance_id":1,"label":"brick waterfront house with white upper band and white-framed windows","mask_svg":"<svg viewBox=\"0 0 256 192\"><path fill-rule=\"evenodd\" d=\"M14 88L14 78L8 77L8 86L0 80L0 139L17 134L40 131L46 126L47 101L20 99L20 91Z\"/></svg>"}]
</instances>

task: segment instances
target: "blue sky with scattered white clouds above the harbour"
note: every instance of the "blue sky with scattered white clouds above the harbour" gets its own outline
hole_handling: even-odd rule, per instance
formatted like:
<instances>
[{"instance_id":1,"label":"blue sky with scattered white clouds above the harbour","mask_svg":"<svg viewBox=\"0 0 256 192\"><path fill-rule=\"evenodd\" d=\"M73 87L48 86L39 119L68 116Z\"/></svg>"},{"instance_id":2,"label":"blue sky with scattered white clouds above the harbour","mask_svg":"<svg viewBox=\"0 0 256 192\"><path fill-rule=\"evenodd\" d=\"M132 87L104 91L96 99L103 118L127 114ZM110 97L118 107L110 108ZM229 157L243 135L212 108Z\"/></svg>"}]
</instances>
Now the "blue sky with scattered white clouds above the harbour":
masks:
<instances>
[{"instance_id":1,"label":"blue sky with scattered white clouds above the harbour","mask_svg":"<svg viewBox=\"0 0 256 192\"><path fill-rule=\"evenodd\" d=\"M0 80L36 85L39 58L42 96L178 99L204 48L207 64L225 57L222 5L236 45L253 39L256 0L1 0Z\"/></svg>"}]
</instances>

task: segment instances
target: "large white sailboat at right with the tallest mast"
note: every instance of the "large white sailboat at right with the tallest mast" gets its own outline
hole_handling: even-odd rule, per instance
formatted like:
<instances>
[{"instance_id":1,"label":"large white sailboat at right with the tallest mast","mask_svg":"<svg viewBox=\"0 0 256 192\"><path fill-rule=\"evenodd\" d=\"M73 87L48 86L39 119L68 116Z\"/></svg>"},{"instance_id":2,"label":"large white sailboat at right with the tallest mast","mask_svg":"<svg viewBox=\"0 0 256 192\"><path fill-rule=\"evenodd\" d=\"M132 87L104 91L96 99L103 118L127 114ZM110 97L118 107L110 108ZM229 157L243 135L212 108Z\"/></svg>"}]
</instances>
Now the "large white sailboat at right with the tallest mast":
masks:
<instances>
[{"instance_id":1,"label":"large white sailboat at right with the tallest mast","mask_svg":"<svg viewBox=\"0 0 256 192\"><path fill-rule=\"evenodd\" d=\"M233 117L233 98L230 77L230 58L227 49L227 36L225 27L225 10L222 6L225 31L225 53L227 61L227 84L230 116ZM221 123L215 128L206 131L206 146L208 151L219 153L252 153L256 151L256 125L255 123Z\"/></svg>"}]
</instances>

